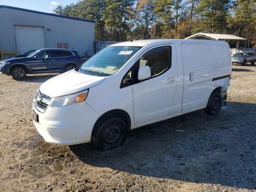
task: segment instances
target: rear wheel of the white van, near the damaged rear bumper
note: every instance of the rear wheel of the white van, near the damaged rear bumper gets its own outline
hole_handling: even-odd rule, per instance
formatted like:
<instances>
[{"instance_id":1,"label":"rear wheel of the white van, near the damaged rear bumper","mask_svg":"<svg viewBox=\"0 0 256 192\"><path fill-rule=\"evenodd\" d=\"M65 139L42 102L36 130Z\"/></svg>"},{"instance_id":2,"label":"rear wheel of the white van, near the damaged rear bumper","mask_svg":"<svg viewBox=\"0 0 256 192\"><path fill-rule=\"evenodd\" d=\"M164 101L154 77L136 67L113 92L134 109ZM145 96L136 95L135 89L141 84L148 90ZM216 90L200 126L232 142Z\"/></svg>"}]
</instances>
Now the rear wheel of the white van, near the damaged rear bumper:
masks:
<instances>
[{"instance_id":1,"label":"rear wheel of the white van, near the damaged rear bumper","mask_svg":"<svg viewBox=\"0 0 256 192\"><path fill-rule=\"evenodd\" d=\"M208 104L204 111L208 115L216 115L222 108L222 98L219 92L213 92L209 98Z\"/></svg>"}]
</instances>

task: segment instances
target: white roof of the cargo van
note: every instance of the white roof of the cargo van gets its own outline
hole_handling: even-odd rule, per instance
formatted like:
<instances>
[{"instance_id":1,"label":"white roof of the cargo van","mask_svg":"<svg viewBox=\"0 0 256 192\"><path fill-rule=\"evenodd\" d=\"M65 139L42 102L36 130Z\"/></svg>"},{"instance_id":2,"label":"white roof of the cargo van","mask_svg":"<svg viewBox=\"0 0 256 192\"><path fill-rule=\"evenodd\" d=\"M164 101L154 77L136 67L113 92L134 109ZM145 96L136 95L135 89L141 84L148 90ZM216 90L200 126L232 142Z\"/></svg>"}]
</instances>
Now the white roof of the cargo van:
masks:
<instances>
[{"instance_id":1,"label":"white roof of the cargo van","mask_svg":"<svg viewBox=\"0 0 256 192\"><path fill-rule=\"evenodd\" d=\"M135 40L135 41L126 41L120 42L116 44L112 44L110 46L146 46L148 44L156 43L156 42L166 42L166 43L173 43L173 42L181 42L181 43L214 43L214 44L226 44L224 41L216 41L216 40L194 40L194 39L147 39L147 40ZM218 43L219 42L219 43Z\"/></svg>"}]
</instances>

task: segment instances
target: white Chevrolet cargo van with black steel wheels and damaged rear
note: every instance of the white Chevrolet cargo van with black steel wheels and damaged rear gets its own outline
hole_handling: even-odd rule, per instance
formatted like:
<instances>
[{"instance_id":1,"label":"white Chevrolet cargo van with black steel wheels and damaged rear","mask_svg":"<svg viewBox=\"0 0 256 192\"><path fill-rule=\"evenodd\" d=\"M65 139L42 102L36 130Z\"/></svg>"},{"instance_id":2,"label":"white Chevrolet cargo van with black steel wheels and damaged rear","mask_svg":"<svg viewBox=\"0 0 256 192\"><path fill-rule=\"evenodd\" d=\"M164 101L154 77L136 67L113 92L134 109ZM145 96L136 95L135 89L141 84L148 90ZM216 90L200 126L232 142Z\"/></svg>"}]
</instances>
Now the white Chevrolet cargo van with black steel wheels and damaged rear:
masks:
<instances>
[{"instance_id":1,"label":"white Chevrolet cargo van with black steel wheels and damaged rear","mask_svg":"<svg viewBox=\"0 0 256 192\"><path fill-rule=\"evenodd\" d=\"M109 150L134 128L200 109L218 114L230 75L226 42L113 44L40 86L33 102L34 125L51 144L92 142Z\"/></svg>"}]
</instances>

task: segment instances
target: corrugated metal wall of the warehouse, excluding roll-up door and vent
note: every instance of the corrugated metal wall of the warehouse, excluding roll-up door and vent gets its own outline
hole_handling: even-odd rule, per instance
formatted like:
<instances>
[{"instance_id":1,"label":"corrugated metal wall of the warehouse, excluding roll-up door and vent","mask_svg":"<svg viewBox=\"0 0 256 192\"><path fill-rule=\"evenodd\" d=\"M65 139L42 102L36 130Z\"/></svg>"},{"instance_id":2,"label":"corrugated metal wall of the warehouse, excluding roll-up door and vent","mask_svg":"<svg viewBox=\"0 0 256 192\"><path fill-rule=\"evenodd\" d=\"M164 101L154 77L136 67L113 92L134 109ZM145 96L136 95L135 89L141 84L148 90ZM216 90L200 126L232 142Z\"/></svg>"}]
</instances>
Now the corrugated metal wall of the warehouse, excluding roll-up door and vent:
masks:
<instances>
[{"instance_id":1,"label":"corrugated metal wall of the warehouse, excluding roll-up door and vent","mask_svg":"<svg viewBox=\"0 0 256 192\"><path fill-rule=\"evenodd\" d=\"M46 48L68 42L81 56L94 54L94 23L0 7L0 49L16 49L14 25L43 26ZM48 31L47 29L50 29Z\"/></svg>"}]
</instances>

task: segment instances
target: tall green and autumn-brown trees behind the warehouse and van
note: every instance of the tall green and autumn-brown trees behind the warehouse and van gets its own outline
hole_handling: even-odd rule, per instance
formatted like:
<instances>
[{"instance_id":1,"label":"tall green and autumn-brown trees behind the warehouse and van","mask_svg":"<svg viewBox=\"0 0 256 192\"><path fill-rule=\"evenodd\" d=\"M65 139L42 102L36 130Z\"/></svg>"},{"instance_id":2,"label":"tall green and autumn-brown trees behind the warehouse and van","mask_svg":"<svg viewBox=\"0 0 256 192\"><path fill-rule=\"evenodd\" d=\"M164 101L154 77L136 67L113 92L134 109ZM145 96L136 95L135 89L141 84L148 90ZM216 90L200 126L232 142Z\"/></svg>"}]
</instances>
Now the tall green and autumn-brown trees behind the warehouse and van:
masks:
<instances>
[{"instance_id":1,"label":"tall green and autumn-brown trees behind the warehouse and van","mask_svg":"<svg viewBox=\"0 0 256 192\"><path fill-rule=\"evenodd\" d=\"M95 21L96 40L234 34L256 47L256 0L80 0L54 13Z\"/></svg>"}]
</instances>

